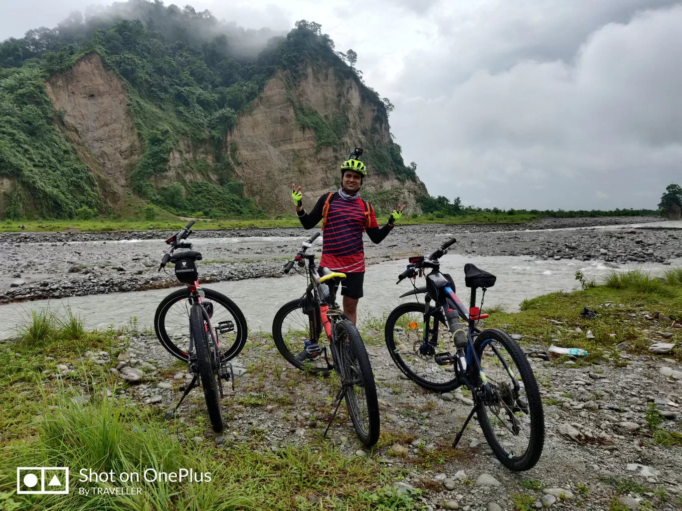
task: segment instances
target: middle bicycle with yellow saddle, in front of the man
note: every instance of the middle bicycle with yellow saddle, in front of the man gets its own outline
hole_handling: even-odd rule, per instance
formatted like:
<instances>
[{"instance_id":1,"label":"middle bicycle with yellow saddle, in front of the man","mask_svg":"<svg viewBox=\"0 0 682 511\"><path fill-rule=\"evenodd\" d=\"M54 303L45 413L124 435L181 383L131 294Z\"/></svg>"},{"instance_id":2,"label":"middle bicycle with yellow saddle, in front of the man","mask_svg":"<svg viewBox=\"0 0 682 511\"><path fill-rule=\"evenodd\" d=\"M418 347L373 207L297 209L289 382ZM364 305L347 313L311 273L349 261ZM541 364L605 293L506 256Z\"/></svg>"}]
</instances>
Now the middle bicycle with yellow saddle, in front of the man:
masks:
<instances>
[{"instance_id":1,"label":"middle bicycle with yellow saddle, in front of the man","mask_svg":"<svg viewBox=\"0 0 682 511\"><path fill-rule=\"evenodd\" d=\"M341 387L333 401L337 403L336 409L324 435L345 398L357 436L364 446L372 447L379 440L379 401L372 366L357 328L336 305L336 285L327 284L327 281L342 281L346 275L327 270L326 275L317 277L315 255L306 252L319 235L316 232L303 242L301 251L284 265L284 273L289 273L294 264L304 268L310 283L301 298L284 304L277 312L272 336L277 349L294 367L323 375L333 369L340 378ZM329 340L332 362L329 362L327 347L318 345L323 331ZM306 360L297 358L296 354L309 350L311 345L318 345L318 352L310 353Z\"/></svg>"}]
</instances>

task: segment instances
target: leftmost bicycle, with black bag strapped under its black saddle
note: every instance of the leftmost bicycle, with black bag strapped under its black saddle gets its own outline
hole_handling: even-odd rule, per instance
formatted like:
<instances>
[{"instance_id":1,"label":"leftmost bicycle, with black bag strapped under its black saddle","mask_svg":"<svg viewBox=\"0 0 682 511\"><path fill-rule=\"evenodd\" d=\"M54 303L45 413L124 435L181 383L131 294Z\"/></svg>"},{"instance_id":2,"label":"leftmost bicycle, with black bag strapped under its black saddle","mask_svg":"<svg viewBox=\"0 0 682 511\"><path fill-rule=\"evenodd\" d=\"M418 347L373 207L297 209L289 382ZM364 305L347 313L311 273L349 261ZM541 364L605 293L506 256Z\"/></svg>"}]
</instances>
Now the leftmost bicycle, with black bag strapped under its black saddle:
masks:
<instances>
[{"instance_id":1,"label":"leftmost bicycle, with black bag strapped under its black saddle","mask_svg":"<svg viewBox=\"0 0 682 511\"><path fill-rule=\"evenodd\" d=\"M158 271L168 262L174 263L175 277L186 288L161 300L154 315L154 330L171 355L188 363L192 375L192 382L180 387L182 397L175 409L166 413L166 419L173 418L182 401L190 390L199 386L201 379L211 427L220 433L223 429L221 380L231 381L234 390L234 371L228 361L244 347L247 326L243 313L232 300L217 291L199 287L196 262L202 260L202 255L192 250L191 243L183 241L190 235L193 225L194 221L190 221L166 240L170 246ZM214 323L217 326L214 327Z\"/></svg>"}]
</instances>

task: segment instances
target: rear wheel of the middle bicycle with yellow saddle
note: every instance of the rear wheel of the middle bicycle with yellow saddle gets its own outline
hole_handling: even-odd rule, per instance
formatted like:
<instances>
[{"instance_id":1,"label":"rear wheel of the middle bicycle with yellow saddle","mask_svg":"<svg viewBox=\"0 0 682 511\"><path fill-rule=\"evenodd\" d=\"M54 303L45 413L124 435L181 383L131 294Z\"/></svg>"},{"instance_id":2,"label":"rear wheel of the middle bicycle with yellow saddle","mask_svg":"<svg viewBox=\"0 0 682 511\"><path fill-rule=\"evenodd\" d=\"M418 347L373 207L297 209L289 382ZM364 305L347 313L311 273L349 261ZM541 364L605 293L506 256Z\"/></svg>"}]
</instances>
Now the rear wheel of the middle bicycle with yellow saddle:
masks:
<instances>
[{"instance_id":1,"label":"rear wheel of the middle bicycle with yellow saddle","mask_svg":"<svg viewBox=\"0 0 682 511\"><path fill-rule=\"evenodd\" d=\"M370 448L379 440L379 433L381 426L379 423L379 400L376 397L376 384L374 383L374 373L372 373L372 365L370 364L370 357L367 354L365 345L362 342L357 328L349 320L341 320L336 323L338 347L341 357L344 358L342 366L346 375L341 375L342 379L349 376L348 373L353 373L354 380L359 377L361 382L360 392L364 394L367 404L367 424L361 416L362 411L357 403L357 396L355 394L355 387L353 385L346 389L345 399L346 408L348 409L351 422L355 428L355 433L366 448ZM349 350L346 350L346 342L343 340L344 335L349 340ZM338 367L338 364L334 364ZM340 372L340 371L338 371ZM347 380L346 380L347 381Z\"/></svg>"}]
</instances>

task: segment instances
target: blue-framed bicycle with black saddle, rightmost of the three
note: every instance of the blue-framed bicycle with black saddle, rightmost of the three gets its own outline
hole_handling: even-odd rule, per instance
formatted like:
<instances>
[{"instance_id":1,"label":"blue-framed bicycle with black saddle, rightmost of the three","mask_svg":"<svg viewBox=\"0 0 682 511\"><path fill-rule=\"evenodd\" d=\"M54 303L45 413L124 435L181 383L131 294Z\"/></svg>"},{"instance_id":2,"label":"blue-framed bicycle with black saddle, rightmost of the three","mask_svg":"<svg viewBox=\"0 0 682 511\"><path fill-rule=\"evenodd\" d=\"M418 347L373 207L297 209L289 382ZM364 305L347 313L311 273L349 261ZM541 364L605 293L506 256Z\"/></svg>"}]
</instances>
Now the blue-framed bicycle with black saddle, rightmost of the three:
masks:
<instances>
[{"instance_id":1,"label":"blue-framed bicycle with black saddle, rightmost of the three","mask_svg":"<svg viewBox=\"0 0 682 511\"><path fill-rule=\"evenodd\" d=\"M400 298L426 296L423 304L403 303L391 311L384 332L386 345L398 369L419 386L437 392L464 386L471 391L473 409L455 436L453 448L476 414L496 458L508 469L528 470L537 463L544 445L544 414L535 375L514 339L501 330L476 327L478 320L488 318L481 309L496 277L473 264L464 266L464 283L471 288L466 311L455 294L454 281L441 273L439 258L455 242L452 238L428 258L409 259L397 283L413 279L414 289ZM426 286L417 288L417 276L424 276L427 269L431 272L426 275ZM475 307L479 288L483 290L481 307ZM455 354L438 352L439 336L454 341Z\"/></svg>"}]
</instances>

